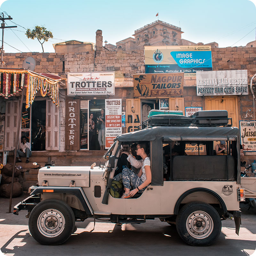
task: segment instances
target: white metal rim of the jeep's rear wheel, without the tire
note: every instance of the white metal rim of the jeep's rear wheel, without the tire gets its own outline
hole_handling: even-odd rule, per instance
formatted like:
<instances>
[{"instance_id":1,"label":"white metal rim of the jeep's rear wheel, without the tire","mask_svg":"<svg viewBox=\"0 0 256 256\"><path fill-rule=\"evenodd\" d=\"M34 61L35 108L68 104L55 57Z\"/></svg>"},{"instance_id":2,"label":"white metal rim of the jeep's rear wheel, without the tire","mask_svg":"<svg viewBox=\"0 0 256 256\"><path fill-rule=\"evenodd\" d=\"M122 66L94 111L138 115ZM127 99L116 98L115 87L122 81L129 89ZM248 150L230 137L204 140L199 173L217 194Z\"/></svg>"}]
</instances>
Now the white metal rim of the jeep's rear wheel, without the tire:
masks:
<instances>
[{"instance_id":1,"label":"white metal rim of the jeep's rear wheel, without the tire","mask_svg":"<svg viewBox=\"0 0 256 256\"><path fill-rule=\"evenodd\" d=\"M188 234L196 239L204 239L212 234L212 217L203 211L191 213L186 220Z\"/></svg>"}]
</instances>

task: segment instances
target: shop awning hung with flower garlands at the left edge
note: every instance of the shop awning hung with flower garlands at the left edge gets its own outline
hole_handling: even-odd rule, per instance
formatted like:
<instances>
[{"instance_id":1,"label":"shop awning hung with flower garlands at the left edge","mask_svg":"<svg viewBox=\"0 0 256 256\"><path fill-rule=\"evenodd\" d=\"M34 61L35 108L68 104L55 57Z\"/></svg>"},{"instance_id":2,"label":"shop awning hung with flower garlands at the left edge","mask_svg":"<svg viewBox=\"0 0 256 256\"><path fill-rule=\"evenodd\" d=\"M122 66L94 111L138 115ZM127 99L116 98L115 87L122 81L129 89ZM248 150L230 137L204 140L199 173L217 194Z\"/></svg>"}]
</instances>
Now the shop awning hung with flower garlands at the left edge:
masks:
<instances>
[{"instance_id":1,"label":"shop awning hung with flower garlands at the left edge","mask_svg":"<svg viewBox=\"0 0 256 256\"><path fill-rule=\"evenodd\" d=\"M8 99L26 87L26 108L33 103L38 91L43 97L49 96L59 107L58 83L64 79L53 74L38 74L23 68L0 68L0 96Z\"/></svg>"}]
</instances>

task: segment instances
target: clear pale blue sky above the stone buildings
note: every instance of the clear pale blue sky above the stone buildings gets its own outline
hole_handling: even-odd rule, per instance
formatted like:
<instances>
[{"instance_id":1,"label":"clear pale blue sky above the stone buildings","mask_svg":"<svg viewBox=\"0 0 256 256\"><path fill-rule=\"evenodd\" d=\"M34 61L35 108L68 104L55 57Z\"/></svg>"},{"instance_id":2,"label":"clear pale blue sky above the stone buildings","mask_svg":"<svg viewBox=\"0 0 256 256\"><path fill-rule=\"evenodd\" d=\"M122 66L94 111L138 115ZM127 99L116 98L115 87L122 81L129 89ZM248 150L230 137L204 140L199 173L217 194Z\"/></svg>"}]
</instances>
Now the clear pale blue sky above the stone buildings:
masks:
<instances>
[{"instance_id":1,"label":"clear pale blue sky above the stone buildings","mask_svg":"<svg viewBox=\"0 0 256 256\"><path fill-rule=\"evenodd\" d=\"M52 32L53 38L43 47L44 52L54 52L52 44L68 40L95 43L97 29L102 30L103 42L116 44L157 18L180 27L181 38L194 43L245 46L256 38L253 2L256 0L0 0L0 15L12 17L5 20L5 26L17 24L17 28L4 29L4 51L42 52L37 39L25 35L27 28L35 26Z\"/></svg>"}]
</instances>

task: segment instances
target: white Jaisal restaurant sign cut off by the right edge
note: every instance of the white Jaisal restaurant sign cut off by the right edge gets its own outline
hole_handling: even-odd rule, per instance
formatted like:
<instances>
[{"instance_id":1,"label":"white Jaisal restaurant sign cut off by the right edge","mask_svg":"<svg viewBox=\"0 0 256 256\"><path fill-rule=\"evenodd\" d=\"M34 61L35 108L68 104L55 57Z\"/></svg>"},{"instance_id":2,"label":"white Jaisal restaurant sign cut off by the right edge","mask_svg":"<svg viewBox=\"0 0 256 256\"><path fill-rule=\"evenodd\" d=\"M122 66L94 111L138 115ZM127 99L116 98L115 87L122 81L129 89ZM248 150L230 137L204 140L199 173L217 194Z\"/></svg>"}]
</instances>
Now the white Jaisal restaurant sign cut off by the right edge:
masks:
<instances>
[{"instance_id":1,"label":"white Jaisal restaurant sign cut off by the right edge","mask_svg":"<svg viewBox=\"0 0 256 256\"><path fill-rule=\"evenodd\" d=\"M244 151L256 151L256 121L239 121L240 143Z\"/></svg>"}]
</instances>

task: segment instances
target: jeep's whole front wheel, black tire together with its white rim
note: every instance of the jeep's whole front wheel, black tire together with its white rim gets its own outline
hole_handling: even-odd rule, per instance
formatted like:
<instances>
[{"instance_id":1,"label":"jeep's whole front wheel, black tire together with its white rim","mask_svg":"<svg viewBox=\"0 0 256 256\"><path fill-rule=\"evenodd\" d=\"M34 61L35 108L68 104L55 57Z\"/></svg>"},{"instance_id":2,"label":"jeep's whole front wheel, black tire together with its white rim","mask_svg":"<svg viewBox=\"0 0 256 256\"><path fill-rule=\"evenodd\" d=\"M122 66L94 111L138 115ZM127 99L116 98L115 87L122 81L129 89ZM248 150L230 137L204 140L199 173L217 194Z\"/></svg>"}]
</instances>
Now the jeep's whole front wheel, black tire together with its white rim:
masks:
<instances>
[{"instance_id":1,"label":"jeep's whole front wheel, black tire together with its white rim","mask_svg":"<svg viewBox=\"0 0 256 256\"><path fill-rule=\"evenodd\" d=\"M72 209L58 199L37 204L30 213L28 228L40 244L58 245L68 240L75 228Z\"/></svg>"}]
</instances>

